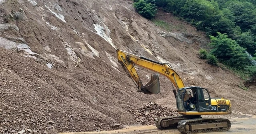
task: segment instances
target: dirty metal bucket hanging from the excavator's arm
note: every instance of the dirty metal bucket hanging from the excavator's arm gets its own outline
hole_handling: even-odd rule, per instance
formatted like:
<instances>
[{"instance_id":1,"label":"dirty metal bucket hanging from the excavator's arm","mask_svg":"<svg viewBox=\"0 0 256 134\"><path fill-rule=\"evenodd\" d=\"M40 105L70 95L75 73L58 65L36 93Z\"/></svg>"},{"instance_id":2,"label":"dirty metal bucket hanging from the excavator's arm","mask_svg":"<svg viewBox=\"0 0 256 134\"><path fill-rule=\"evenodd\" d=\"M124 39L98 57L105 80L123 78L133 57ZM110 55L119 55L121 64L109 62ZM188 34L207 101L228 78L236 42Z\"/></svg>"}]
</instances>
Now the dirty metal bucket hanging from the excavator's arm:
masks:
<instances>
[{"instance_id":1,"label":"dirty metal bucket hanging from the excavator's arm","mask_svg":"<svg viewBox=\"0 0 256 134\"><path fill-rule=\"evenodd\" d=\"M158 94L160 92L160 83L158 74L151 75L151 80L142 87L145 94Z\"/></svg>"}]
</instances>

